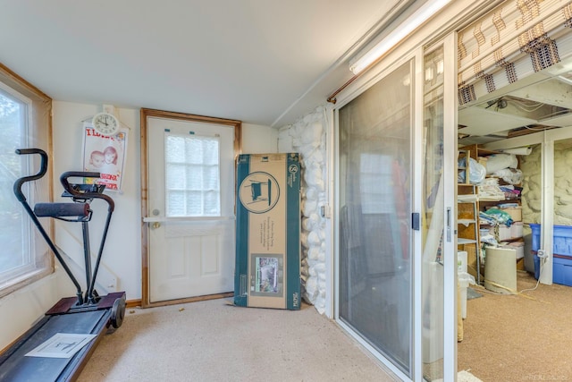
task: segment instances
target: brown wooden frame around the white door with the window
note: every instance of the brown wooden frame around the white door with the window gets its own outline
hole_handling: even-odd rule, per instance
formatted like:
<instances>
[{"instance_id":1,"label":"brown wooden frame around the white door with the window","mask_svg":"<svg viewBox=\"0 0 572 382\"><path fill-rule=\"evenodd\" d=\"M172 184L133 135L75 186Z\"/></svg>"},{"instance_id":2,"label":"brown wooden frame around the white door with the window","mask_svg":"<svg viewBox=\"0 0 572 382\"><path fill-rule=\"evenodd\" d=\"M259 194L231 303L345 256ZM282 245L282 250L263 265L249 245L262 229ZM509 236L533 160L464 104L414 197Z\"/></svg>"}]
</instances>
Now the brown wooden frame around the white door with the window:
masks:
<instances>
[{"instance_id":1,"label":"brown wooden frame around the white door with the window","mask_svg":"<svg viewBox=\"0 0 572 382\"><path fill-rule=\"evenodd\" d=\"M141 108L140 110L140 133L141 133L141 307L151 308L156 306L172 305L193 301L205 301L223 297L231 297L233 293L209 294L206 296L189 297L184 299L176 299L169 301L151 302L149 298L149 223L144 221L147 216L147 191L148 191L148 156L147 156L147 128L148 118L164 118L175 121L213 123L218 125L231 126L234 129L234 157L236 166L236 157L242 152L242 122L231 119L215 118L204 115L190 115L185 113L169 112L164 110ZM236 187L235 187L236 190ZM236 198L235 198L236 199ZM236 207L235 207L236 210Z\"/></svg>"}]
</instances>

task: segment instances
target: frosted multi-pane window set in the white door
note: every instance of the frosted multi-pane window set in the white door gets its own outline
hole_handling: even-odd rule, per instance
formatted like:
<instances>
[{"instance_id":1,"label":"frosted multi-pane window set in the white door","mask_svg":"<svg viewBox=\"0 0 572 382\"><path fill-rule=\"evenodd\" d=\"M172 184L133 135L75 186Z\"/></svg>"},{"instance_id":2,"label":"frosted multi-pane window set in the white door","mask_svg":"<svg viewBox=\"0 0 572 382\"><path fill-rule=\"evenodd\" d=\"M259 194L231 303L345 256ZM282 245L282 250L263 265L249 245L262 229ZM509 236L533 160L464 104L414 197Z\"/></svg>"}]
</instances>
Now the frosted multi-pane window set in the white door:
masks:
<instances>
[{"instance_id":1,"label":"frosted multi-pane window set in the white door","mask_svg":"<svg viewBox=\"0 0 572 382\"><path fill-rule=\"evenodd\" d=\"M165 135L167 216L220 216L219 140Z\"/></svg>"}]
</instances>

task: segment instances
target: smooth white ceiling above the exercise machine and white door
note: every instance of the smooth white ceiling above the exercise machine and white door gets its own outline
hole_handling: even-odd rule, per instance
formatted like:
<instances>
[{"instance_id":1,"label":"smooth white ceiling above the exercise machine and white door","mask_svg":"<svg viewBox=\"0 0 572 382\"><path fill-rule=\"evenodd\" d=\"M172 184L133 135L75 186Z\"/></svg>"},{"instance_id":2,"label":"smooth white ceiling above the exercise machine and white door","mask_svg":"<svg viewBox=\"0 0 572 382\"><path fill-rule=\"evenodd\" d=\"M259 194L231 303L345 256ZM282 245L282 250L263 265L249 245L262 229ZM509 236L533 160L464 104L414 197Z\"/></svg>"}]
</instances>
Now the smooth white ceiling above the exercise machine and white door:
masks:
<instances>
[{"instance_id":1,"label":"smooth white ceiling above the exercise machine and white door","mask_svg":"<svg viewBox=\"0 0 572 382\"><path fill-rule=\"evenodd\" d=\"M399 0L4 0L0 63L58 101L281 127L351 77Z\"/></svg>"}]
</instances>

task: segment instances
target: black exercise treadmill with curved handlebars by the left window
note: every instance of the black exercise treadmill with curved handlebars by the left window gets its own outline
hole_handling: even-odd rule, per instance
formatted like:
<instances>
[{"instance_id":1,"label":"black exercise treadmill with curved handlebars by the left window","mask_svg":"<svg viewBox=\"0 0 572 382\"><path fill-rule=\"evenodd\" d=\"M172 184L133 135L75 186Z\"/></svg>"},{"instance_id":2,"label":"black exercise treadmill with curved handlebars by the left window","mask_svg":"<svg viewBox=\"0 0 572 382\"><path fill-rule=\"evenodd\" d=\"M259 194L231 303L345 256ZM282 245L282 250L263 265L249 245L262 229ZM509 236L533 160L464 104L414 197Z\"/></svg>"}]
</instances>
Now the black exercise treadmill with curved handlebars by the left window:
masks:
<instances>
[{"instance_id":1,"label":"black exercise treadmill with curved handlebars by the left window","mask_svg":"<svg viewBox=\"0 0 572 382\"><path fill-rule=\"evenodd\" d=\"M16 198L21 202L39 233L54 252L65 273L70 277L76 287L75 297L67 297L58 301L36 325L31 327L24 335L0 354L0 381L66 381L76 379L91 354L95 351L97 343L108 331L114 331L122 326L125 314L125 293L116 292L100 296L96 289L97 271L103 255L105 238L114 212L114 200L105 195L105 185L100 184L74 184L70 178L97 179L99 173L94 172L66 172L60 176L63 185L63 197L70 198L70 202L37 203L32 209L22 186L25 183L37 181L46 174L47 155L42 149L17 149L18 155L39 155L40 168L38 174L24 176L18 179L13 186ZM107 204L107 216L103 229L95 266L92 270L91 250L89 244L88 222L93 211L90 204L94 199L104 200ZM66 222L80 223L83 234L83 255L85 261L86 292L77 278L72 274L62 254L55 246L40 224L38 217L53 217ZM30 357L27 353L39 345L46 344L50 338L57 334L67 335L95 335L88 344L81 347L71 358Z\"/></svg>"}]
</instances>

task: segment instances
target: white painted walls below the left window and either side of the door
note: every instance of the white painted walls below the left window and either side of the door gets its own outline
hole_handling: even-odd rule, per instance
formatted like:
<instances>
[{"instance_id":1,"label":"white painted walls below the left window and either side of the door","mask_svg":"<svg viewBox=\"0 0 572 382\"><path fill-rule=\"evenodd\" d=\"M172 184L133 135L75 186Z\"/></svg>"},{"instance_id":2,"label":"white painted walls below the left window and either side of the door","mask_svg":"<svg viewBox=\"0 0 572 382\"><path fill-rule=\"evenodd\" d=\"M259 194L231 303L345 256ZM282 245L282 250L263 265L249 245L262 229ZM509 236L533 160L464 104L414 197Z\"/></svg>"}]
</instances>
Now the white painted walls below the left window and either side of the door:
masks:
<instances>
[{"instance_id":1,"label":"white painted walls below the left window and either side of the door","mask_svg":"<svg viewBox=\"0 0 572 382\"><path fill-rule=\"evenodd\" d=\"M82 122L101 111L99 105L54 101L53 152L49 157L54 166L54 195L60 199L63 188L59 176L65 171L80 171L82 167ZM105 242L100 275L105 283L97 290L125 291L127 300L141 298L141 232L140 232L140 176L139 176L139 109L118 109L122 124L128 127L128 147L122 181L122 192L106 191L115 202L112 223ZM244 153L277 152L278 131L267 126L242 124L242 151ZM103 225L105 204L94 201L94 218L90 222L92 245L98 244ZM99 219L101 217L101 219ZM63 247L63 254L76 257L82 249L79 224L56 222L56 244ZM97 248L93 248L96 250ZM68 253L74 252L74 253ZM82 253L79 254L82 256ZM81 264L82 265L82 264ZM75 267L75 266L72 266ZM63 297L75 295L75 288L56 260L56 272L34 284L0 299L0 350L11 344L46 310ZM78 268L78 270L80 270ZM81 284L85 276L77 275ZM111 280L111 281L109 281ZM112 283L113 282L113 283ZM113 285L112 285L113 284ZM110 286L111 285L111 286ZM85 289L85 287L84 287Z\"/></svg>"}]
</instances>

